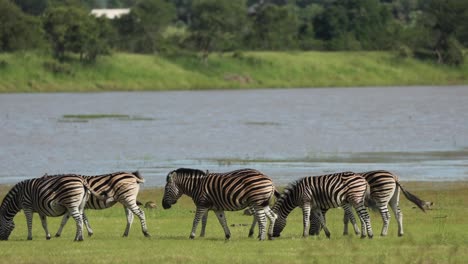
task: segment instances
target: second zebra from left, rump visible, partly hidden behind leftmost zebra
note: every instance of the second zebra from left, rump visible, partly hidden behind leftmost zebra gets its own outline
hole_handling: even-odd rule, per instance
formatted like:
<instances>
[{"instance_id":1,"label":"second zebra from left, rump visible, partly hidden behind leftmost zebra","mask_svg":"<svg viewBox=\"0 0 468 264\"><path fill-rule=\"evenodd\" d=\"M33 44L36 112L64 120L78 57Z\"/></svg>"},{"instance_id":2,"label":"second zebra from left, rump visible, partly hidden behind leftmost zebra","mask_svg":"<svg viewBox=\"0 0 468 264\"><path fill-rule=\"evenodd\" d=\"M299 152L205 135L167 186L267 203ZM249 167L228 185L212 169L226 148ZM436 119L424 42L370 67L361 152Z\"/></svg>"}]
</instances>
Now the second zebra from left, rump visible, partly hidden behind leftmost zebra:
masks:
<instances>
[{"instance_id":1,"label":"second zebra from left, rump visible, partly hidden behind leftmost zebra","mask_svg":"<svg viewBox=\"0 0 468 264\"><path fill-rule=\"evenodd\" d=\"M60 175L48 176L48 177L60 177ZM127 215L127 227L123 234L124 237L128 236L130 226L133 222L133 214L140 218L141 229L146 237L149 237L148 229L146 227L145 213L137 205L137 195L140 190L140 183L144 182L138 171L136 172L115 172L110 174L103 174L97 176L83 176L84 180L88 183L91 188L99 193L105 193L108 197L112 197L113 202L104 202L98 198L92 196L86 203L85 209L106 209L114 206L117 202L124 206L125 214ZM70 218L69 214L63 216L62 223L55 234L59 237L62 233L63 227ZM93 230L89 224L88 218L83 213L83 221L88 235L93 235Z\"/></svg>"}]
</instances>

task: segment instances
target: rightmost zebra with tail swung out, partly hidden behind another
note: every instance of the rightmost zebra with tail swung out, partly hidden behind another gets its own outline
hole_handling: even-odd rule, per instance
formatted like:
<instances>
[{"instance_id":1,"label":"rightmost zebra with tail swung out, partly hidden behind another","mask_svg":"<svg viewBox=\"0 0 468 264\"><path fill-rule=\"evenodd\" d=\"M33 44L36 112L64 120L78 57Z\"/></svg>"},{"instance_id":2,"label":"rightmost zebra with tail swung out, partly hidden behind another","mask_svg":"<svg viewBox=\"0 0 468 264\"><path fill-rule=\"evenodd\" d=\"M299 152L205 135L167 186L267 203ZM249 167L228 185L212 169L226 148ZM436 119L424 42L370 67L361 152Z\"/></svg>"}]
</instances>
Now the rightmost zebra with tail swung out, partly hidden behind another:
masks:
<instances>
[{"instance_id":1,"label":"rightmost zebra with tail swung out, partly hidden behind another","mask_svg":"<svg viewBox=\"0 0 468 264\"><path fill-rule=\"evenodd\" d=\"M427 207L427 202L421 200L416 195L405 190L398 180L398 176L386 170L374 170L360 173L370 186L370 200L368 201L369 207L378 209L382 216L383 226L380 233L381 236L386 236L388 233L388 226L390 223L390 212L388 206L392 208L395 218L398 223L398 236L403 236L403 213L400 210L400 189L405 197L418 206L423 212ZM324 212L325 213L325 212ZM354 220L352 213L344 214L344 231L343 234L348 234L348 221ZM320 231L317 225L318 219L311 219L310 234L318 234ZM355 221L355 220L354 220ZM357 231L359 232L359 230Z\"/></svg>"}]
</instances>

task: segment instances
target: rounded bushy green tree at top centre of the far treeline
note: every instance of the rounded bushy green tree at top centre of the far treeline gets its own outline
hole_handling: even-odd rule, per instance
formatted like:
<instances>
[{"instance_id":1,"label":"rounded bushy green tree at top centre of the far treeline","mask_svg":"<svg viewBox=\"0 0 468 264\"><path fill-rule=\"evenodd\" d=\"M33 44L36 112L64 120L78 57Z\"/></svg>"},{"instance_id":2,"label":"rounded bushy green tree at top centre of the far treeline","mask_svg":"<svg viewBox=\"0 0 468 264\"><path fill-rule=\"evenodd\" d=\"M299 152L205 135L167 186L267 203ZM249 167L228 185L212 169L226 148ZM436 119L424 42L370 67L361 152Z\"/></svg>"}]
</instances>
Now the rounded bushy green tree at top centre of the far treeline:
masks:
<instances>
[{"instance_id":1,"label":"rounded bushy green tree at top centre of the far treeline","mask_svg":"<svg viewBox=\"0 0 468 264\"><path fill-rule=\"evenodd\" d=\"M246 28L246 17L244 1L194 1L190 41L204 58L213 51L236 48Z\"/></svg>"}]
</instances>

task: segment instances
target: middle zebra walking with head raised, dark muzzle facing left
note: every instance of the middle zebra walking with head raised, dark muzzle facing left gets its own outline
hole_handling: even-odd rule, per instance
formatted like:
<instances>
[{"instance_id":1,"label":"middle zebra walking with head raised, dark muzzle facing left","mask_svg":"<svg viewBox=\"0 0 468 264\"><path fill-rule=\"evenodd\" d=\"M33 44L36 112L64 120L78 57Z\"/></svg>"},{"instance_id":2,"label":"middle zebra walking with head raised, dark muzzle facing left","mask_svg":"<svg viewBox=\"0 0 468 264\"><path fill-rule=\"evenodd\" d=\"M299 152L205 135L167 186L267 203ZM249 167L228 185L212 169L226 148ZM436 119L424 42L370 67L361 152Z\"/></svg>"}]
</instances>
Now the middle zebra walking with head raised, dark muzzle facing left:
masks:
<instances>
[{"instance_id":1,"label":"middle zebra walking with head raised, dark muzzle facing left","mask_svg":"<svg viewBox=\"0 0 468 264\"><path fill-rule=\"evenodd\" d=\"M268 238L272 239L276 214L269 206L275 191L271 179L253 169L240 169L227 173L208 173L196 169L177 169L167 175L162 205L171 208L183 195L188 195L197 207L190 238L195 232L200 218L209 210L215 211L223 226L226 239L231 232L226 223L224 211L238 211L246 207L253 208L259 222L259 239L265 239L266 218L270 220Z\"/></svg>"}]
</instances>

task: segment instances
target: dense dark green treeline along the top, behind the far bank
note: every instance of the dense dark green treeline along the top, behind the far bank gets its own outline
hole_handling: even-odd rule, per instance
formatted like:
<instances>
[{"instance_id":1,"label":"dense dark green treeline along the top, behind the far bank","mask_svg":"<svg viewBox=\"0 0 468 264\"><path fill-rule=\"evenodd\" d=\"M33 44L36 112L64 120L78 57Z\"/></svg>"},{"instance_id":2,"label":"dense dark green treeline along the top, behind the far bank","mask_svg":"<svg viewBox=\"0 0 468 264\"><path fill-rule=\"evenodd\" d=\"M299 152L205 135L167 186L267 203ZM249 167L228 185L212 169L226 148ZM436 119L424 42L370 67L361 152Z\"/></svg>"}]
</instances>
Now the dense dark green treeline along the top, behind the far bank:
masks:
<instances>
[{"instance_id":1,"label":"dense dark green treeline along the top, behind the far bank","mask_svg":"<svg viewBox=\"0 0 468 264\"><path fill-rule=\"evenodd\" d=\"M93 8L129 8L114 19ZM37 48L94 61L135 53L396 50L458 65L468 45L459 0L0 0L0 51ZM44 34L45 33L45 34Z\"/></svg>"}]
</instances>

